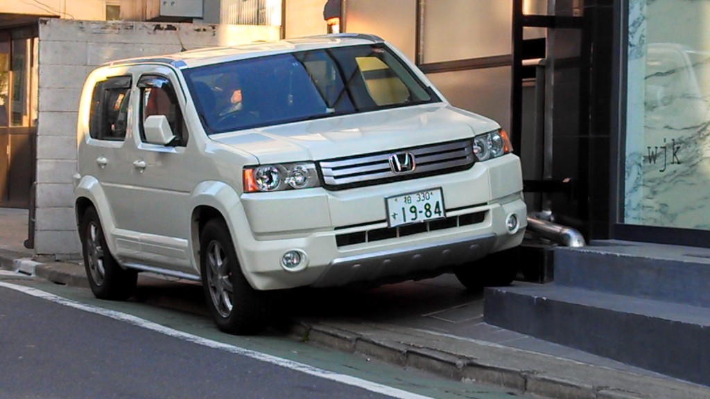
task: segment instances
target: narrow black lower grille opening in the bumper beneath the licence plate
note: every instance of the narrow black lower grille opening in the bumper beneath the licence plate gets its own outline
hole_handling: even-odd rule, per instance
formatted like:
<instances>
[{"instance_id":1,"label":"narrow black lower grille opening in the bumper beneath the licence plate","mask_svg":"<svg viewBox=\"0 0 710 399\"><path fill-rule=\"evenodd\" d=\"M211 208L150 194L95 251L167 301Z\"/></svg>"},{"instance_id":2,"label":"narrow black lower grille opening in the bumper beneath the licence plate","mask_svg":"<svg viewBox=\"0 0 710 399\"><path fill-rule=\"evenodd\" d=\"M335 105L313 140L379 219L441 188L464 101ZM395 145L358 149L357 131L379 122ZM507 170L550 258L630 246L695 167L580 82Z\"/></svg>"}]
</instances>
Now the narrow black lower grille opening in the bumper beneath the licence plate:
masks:
<instances>
[{"instance_id":1,"label":"narrow black lower grille opening in the bumper beneath the licence plate","mask_svg":"<svg viewBox=\"0 0 710 399\"><path fill-rule=\"evenodd\" d=\"M348 246L363 244L373 241L395 239L398 237L411 236L413 234L426 233L427 231L453 229L454 227L469 226L481 223L486 219L486 212L474 212L462 214L446 219L432 220L430 222L409 224L399 227L383 227L382 229L372 229L366 231L356 231L355 233L337 234L335 242L337 246Z\"/></svg>"}]
</instances>

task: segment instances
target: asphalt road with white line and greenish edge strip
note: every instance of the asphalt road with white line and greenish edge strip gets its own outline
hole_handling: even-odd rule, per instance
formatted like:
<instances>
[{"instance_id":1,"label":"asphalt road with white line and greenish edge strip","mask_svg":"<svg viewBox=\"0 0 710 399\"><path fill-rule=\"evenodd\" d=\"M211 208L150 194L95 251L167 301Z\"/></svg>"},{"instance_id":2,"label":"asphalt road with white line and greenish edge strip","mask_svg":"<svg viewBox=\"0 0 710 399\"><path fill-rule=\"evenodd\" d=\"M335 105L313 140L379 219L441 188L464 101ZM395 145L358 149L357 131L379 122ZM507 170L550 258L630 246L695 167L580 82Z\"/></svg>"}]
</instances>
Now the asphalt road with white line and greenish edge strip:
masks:
<instances>
[{"instance_id":1,"label":"asphalt road with white line and greenish edge strip","mask_svg":"<svg viewBox=\"0 0 710 399\"><path fill-rule=\"evenodd\" d=\"M3 275L0 365L0 398L510 398L278 334L229 336L199 313Z\"/></svg>"}]
</instances>

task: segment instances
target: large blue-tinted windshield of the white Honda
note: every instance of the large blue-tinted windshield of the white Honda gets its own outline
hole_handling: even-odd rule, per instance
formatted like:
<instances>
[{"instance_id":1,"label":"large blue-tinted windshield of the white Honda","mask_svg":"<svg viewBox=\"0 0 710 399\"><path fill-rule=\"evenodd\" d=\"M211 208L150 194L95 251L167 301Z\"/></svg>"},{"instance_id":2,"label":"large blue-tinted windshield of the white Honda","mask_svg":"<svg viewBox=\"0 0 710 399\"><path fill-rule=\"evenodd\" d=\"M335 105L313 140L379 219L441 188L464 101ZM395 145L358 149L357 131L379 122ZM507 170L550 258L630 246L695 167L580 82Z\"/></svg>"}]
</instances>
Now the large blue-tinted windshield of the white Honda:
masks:
<instances>
[{"instance_id":1,"label":"large blue-tinted windshield of the white Honda","mask_svg":"<svg viewBox=\"0 0 710 399\"><path fill-rule=\"evenodd\" d=\"M184 73L208 134L440 101L383 45L269 55Z\"/></svg>"}]
</instances>

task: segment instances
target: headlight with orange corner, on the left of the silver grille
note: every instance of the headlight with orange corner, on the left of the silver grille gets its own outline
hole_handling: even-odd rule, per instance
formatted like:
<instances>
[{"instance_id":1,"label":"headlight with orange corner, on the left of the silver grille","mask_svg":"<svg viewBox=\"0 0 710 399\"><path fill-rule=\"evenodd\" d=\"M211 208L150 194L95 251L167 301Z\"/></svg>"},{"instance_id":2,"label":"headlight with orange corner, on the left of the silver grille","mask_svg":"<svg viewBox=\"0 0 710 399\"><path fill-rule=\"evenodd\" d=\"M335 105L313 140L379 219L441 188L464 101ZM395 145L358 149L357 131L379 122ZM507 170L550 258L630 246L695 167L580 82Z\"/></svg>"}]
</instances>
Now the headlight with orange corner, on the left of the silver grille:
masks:
<instances>
[{"instance_id":1,"label":"headlight with orange corner, on the left of the silver grille","mask_svg":"<svg viewBox=\"0 0 710 399\"><path fill-rule=\"evenodd\" d=\"M244 192L280 191L317 187L313 163L284 163L244 168Z\"/></svg>"}]
</instances>

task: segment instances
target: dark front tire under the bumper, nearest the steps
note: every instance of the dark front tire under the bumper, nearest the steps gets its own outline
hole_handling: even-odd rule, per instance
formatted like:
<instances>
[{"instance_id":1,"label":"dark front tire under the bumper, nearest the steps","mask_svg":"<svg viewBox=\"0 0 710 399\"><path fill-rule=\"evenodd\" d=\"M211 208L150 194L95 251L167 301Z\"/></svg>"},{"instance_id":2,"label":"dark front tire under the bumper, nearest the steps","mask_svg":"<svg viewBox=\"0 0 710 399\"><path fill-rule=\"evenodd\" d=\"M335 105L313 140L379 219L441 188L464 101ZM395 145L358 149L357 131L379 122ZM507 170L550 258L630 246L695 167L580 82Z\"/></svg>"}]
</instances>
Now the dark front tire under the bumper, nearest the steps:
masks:
<instances>
[{"instance_id":1,"label":"dark front tire under the bumper, nearest the steps","mask_svg":"<svg viewBox=\"0 0 710 399\"><path fill-rule=\"evenodd\" d=\"M459 282L471 291L484 287L510 285L520 268L520 248L510 248L491 253L479 261L464 263L454 268Z\"/></svg>"}]
</instances>

